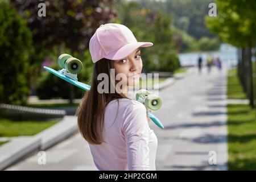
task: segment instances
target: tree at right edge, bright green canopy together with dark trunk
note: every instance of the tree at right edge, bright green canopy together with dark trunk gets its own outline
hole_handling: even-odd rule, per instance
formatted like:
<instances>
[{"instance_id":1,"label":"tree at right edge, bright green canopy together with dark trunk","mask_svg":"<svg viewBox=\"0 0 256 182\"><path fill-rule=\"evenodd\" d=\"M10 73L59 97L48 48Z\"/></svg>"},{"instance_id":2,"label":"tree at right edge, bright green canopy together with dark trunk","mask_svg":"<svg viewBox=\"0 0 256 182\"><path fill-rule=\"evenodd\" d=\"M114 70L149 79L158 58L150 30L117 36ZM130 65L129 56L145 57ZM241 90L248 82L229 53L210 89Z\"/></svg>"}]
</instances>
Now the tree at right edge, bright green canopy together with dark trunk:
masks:
<instances>
[{"instance_id":1,"label":"tree at right edge, bright green canopy together with dark trunk","mask_svg":"<svg viewBox=\"0 0 256 182\"><path fill-rule=\"evenodd\" d=\"M254 106L251 48L256 46L256 3L253 0L216 2L218 16L205 17L205 23L224 42L242 48L242 55L247 55L243 56L245 59L241 63L239 62L238 73L250 99L250 105Z\"/></svg>"}]
</instances>

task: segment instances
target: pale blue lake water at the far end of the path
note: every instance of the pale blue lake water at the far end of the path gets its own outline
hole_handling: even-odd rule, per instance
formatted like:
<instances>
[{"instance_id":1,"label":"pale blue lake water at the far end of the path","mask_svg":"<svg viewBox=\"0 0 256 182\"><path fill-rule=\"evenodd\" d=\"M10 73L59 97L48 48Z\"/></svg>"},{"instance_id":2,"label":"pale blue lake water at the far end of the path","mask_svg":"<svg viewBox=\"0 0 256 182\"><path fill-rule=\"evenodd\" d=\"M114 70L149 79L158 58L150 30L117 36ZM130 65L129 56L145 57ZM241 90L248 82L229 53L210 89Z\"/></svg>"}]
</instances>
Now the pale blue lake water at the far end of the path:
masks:
<instances>
[{"instance_id":1,"label":"pale blue lake water at the far end of the path","mask_svg":"<svg viewBox=\"0 0 256 182\"><path fill-rule=\"evenodd\" d=\"M197 60L199 56L203 59L203 64L206 63L207 56L211 55L214 57L220 57L222 62L225 62L228 67L234 67L237 65L238 56L237 48L229 44L221 44L218 51L210 52L189 52L189 53L179 53L179 60L181 66L195 66L197 65Z\"/></svg>"}]
</instances>

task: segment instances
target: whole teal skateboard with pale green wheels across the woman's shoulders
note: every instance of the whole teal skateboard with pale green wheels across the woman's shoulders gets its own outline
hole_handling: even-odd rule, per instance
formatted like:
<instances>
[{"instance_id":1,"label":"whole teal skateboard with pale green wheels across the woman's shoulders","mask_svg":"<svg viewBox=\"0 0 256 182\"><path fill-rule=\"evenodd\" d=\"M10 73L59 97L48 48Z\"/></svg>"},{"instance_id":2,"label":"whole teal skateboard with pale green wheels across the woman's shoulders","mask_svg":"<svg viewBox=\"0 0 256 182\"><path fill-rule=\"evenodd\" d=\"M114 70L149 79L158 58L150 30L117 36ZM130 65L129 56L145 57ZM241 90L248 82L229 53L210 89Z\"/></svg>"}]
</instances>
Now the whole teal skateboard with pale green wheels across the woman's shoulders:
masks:
<instances>
[{"instance_id":1,"label":"whole teal skateboard with pale green wheels across the woman's shoulders","mask_svg":"<svg viewBox=\"0 0 256 182\"><path fill-rule=\"evenodd\" d=\"M82 62L67 53L63 53L57 59L57 64L59 65L59 71L55 69L49 68L44 66L48 72L52 73L53 75L60 77L61 79L73 84L81 89L86 91L90 90L90 85L84 84L77 79L77 73L79 73L82 69ZM141 102L144 106L148 109L148 116L150 119L161 129L164 129L163 124L159 121L158 118L155 117L154 114L151 113L151 110L158 110L162 106L162 100L159 96L152 94L146 89L141 89L136 94L136 100Z\"/></svg>"}]
</instances>

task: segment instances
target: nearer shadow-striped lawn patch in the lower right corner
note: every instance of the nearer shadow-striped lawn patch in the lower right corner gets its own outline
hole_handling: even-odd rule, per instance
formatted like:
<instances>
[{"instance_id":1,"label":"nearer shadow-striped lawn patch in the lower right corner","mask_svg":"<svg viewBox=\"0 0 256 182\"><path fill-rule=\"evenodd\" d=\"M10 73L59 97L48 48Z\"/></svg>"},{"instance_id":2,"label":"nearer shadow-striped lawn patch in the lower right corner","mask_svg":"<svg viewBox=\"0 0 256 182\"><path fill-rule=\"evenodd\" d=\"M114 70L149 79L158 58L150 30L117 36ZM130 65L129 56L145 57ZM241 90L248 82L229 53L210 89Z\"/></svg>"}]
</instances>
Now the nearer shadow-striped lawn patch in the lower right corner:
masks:
<instances>
[{"instance_id":1,"label":"nearer shadow-striped lawn patch in the lower right corner","mask_svg":"<svg viewBox=\"0 0 256 182\"><path fill-rule=\"evenodd\" d=\"M228 105L228 169L256 170L256 117L249 105Z\"/></svg>"}]
</instances>

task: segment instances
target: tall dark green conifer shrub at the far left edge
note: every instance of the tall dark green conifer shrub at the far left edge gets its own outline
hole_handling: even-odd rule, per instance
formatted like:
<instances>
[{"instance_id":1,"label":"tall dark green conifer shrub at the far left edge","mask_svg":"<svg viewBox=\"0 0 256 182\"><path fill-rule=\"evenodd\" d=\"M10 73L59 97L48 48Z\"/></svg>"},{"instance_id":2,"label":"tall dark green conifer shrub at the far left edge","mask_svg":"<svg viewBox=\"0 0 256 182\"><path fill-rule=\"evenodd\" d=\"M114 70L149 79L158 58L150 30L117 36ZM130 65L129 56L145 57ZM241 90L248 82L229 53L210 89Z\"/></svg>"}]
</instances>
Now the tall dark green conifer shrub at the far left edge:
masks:
<instances>
[{"instance_id":1,"label":"tall dark green conifer shrub at the far left edge","mask_svg":"<svg viewBox=\"0 0 256 182\"><path fill-rule=\"evenodd\" d=\"M24 105L29 95L32 36L26 20L0 1L0 102Z\"/></svg>"}]
</instances>

